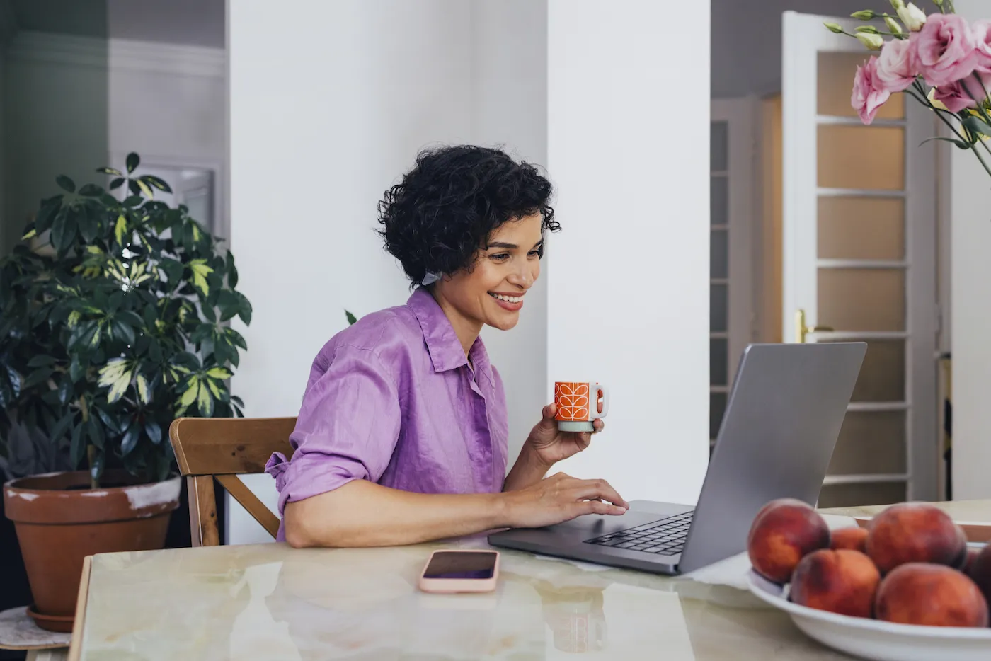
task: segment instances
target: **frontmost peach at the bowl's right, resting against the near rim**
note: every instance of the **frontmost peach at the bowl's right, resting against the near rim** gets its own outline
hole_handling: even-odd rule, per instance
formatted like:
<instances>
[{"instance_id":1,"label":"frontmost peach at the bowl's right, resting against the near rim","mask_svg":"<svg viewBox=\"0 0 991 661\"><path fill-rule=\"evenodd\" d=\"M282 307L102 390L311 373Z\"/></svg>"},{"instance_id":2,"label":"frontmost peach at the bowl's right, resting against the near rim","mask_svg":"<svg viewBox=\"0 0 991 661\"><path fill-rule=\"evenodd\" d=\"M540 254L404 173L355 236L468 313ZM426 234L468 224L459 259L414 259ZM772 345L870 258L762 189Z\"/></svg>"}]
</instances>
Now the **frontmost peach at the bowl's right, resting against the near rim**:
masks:
<instances>
[{"instance_id":1,"label":"frontmost peach at the bowl's right, resting against the near rim","mask_svg":"<svg viewBox=\"0 0 991 661\"><path fill-rule=\"evenodd\" d=\"M944 565L910 562L881 581L878 619L926 626L987 626L988 604L977 585Z\"/></svg>"}]
</instances>

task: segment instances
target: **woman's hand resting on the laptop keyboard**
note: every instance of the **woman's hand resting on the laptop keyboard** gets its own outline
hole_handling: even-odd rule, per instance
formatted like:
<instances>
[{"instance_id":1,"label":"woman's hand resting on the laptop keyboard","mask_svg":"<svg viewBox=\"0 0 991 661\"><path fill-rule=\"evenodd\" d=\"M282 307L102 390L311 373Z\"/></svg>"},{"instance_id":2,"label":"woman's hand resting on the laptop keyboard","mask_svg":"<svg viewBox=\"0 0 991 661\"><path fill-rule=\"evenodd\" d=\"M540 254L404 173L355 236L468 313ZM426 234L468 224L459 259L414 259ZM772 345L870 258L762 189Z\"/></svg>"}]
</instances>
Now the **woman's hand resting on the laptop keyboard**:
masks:
<instances>
[{"instance_id":1,"label":"woman's hand resting on the laptop keyboard","mask_svg":"<svg viewBox=\"0 0 991 661\"><path fill-rule=\"evenodd\" d=\"M629 508L605 480L578 480L564 473L502 496L507 504L505 525L511 528L539 528L582 514L619 515Z\"/></svg>"}]
</instances>

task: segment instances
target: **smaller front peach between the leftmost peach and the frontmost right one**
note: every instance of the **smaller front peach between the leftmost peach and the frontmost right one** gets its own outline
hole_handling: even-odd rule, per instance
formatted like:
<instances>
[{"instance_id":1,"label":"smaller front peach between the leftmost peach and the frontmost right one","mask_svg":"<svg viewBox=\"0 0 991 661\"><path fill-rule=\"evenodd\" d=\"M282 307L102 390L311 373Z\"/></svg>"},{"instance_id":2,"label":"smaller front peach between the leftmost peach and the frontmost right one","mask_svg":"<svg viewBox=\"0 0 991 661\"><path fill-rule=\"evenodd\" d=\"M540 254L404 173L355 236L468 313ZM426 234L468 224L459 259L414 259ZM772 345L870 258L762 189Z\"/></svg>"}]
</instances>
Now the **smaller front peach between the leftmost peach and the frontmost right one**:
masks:
<instances>
[{"instance_id":1,"label":"smaller front peach between the leftmost peach and the frontmost right one","mask_svg":"<svg viewBox=\"0 0 991 661\"><path fill-rule=\"evenodd\" d=\"M865 554L850 549L813 551L795 568L789 599L795 604L870 617L881 573Z\"/></svg>"}]
</instances>

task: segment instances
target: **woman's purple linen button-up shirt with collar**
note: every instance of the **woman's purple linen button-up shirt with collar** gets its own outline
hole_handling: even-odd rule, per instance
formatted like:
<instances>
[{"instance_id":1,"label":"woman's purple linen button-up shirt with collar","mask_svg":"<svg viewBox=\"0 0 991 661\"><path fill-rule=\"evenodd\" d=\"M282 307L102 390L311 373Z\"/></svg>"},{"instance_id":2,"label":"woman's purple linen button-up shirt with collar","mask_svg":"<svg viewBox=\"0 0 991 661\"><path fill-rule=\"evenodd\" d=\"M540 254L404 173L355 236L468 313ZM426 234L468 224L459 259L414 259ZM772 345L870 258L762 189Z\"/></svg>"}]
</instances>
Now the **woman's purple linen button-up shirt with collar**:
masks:
<instances>
[{"instance_id":1,"label":"woman's purple linen button-up shirt with collar","mask_svg":"<svg viewBox=\"0 0 991 661\"><path fill-rule=\"evenodd\" d=\"M276 452L266 465L279 514L352 480L420 494L502 491L505 392L482 338L469 357L474 372L423 288L331 338L310 369L292 458Z\"/></svg>"}]
</instances>

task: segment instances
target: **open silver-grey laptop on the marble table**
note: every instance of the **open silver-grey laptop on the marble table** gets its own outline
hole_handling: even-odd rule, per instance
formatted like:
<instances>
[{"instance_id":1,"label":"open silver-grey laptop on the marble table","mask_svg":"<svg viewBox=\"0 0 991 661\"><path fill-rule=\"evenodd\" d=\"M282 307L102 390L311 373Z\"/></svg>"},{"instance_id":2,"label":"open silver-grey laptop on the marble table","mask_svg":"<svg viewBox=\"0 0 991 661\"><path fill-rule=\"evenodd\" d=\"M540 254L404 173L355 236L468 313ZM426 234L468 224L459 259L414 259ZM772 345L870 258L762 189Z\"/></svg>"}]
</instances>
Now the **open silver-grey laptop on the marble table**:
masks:
<instances>
[{"instance_id":1,"label":"open silver-grey laptop on the marble table","mask_svg":"<svg viewBox=\"0 0 991 661\"><path fill-rule=\"evenodd\" d=\"M513 528L489 542L659 574L691 572L743 551L768 500L816 504L866 350L863 342L748 346L695 507L634 500L621 516ZM658 480L670 470L677 467L659 470Z\"/></svg>"}]
</instances>

